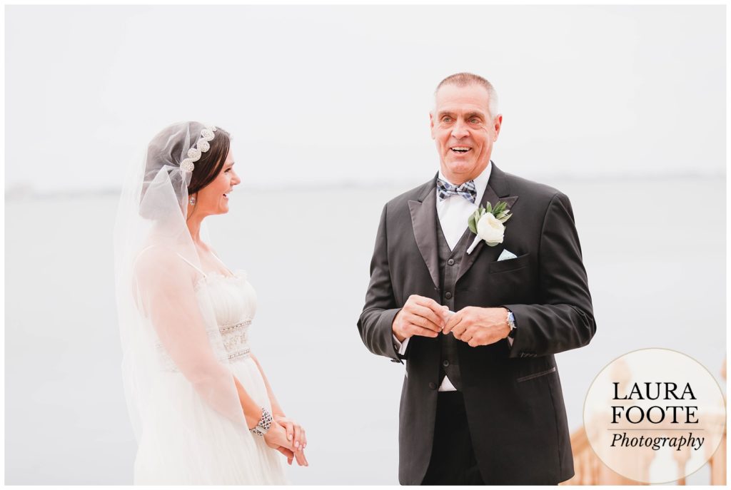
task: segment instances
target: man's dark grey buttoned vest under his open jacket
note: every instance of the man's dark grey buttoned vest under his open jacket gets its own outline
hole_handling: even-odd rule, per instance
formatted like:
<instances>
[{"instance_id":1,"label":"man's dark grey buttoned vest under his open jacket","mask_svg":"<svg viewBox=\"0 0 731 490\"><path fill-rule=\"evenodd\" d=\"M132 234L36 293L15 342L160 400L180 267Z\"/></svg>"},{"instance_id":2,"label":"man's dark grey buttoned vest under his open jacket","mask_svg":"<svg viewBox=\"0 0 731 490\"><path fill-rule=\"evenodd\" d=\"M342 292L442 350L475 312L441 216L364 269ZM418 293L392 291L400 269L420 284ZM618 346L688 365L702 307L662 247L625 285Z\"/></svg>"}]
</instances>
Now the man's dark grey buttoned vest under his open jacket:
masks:
<instances>
[{"instance_id":1,"label":"man's dark grey buttoned vest under his open jacket","mask_svg":"<svg viewBox=\"0 0 731 490\"><path fill-rule=\"evenodd\" d=\"M444 233L442 233L442 225L436 223L436 243L437 253L439 254L439 292L442 296L442 305L447 305L452 311L455 310L455 286L459 267L462 263L462 257L473 239L474 235L467 229L455 245L455 249L450 250L450 245L447 244ZM448 334L440 335L439 342L441 345L439 384L442 384L444 375L446 375L447 378L450 378L452 385L461 391L462 378L459 372L457 352L457 342L461 342L461 340L457 340L454 335Z\"/></svg>"}]
</instances>

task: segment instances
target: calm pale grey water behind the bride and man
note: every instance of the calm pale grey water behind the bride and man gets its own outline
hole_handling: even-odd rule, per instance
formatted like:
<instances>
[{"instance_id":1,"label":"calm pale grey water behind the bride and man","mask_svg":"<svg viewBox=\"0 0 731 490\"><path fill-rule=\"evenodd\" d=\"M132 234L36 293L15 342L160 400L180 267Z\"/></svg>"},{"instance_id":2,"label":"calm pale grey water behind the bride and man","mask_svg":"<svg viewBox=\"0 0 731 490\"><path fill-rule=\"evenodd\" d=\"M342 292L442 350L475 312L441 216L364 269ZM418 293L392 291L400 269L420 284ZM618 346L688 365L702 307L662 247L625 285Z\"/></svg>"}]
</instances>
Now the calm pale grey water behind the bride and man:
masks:
<instances>
[{"instance_id":1,"label":"calm pale grey water behind the bride and man","mask_svg":"<svg viewBox=\"0 0 731 490\"><path fill-rule=\"evenodd\" d=\"M637 348L683 351L721 381L724 178L546 183L572 199L598 325L590 345L557 356L569 426L581 426L596 373ZM403 367L368 353L355 322L382 205L407 188L240 189L232 212L209 220L224 261L246 269L257 289L257 357L284 410L308 429L310 467L293 467L293 483L398 483ZM6 202L8 484L132 483L113 291L116 202ZM689 483L707 478L701 471Z\"/></svg>"}]
</instances>

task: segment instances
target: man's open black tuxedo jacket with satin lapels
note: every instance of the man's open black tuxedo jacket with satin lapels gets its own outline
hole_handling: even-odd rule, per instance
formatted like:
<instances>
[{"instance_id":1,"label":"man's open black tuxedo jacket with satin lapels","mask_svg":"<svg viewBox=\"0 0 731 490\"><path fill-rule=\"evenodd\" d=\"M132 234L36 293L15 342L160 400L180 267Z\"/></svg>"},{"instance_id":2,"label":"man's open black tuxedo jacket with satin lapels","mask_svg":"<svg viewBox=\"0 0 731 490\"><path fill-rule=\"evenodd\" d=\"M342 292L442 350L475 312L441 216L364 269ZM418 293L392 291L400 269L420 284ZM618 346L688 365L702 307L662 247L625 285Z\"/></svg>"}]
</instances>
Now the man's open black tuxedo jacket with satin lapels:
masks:
<instances>
[{"instance_id":1,"label":"man's open black tuxedo jacket with satin lapels","mask_svg":"<svg viewBox=\"0 0 731 490\"><path fill-rule=\"evenodd\" d=\"M507 202L501 245L465 255L455 310L507 307L515 340L458 342L462 392L475 457L488 484L555 484L574 475L561 381L553 354L588 344L596 331L571 203L548 185L493 165L482 203ZM435 179L388 202L371 261L358 330L368 350L401 362L391 333L412 294L440 302ZM465 223L465 227L467 223ZM510 250L518 257L497 261ZM439 383L439 340L412 337L399 411L401 484L421 483L429 464Z\"/></svg>"}]
</instances>

